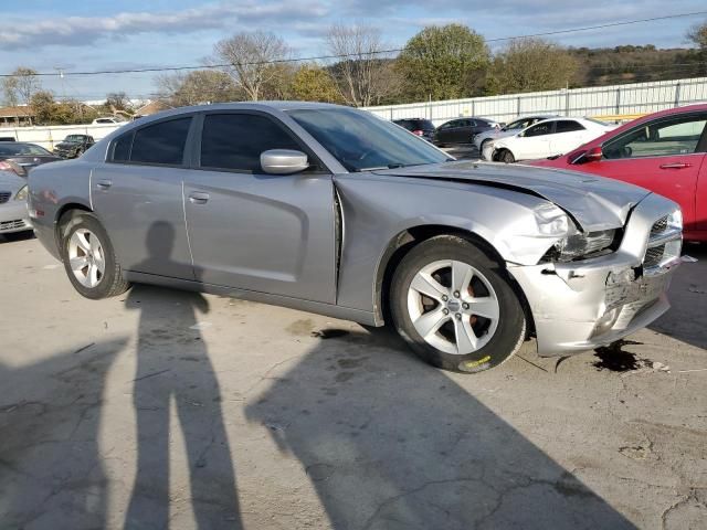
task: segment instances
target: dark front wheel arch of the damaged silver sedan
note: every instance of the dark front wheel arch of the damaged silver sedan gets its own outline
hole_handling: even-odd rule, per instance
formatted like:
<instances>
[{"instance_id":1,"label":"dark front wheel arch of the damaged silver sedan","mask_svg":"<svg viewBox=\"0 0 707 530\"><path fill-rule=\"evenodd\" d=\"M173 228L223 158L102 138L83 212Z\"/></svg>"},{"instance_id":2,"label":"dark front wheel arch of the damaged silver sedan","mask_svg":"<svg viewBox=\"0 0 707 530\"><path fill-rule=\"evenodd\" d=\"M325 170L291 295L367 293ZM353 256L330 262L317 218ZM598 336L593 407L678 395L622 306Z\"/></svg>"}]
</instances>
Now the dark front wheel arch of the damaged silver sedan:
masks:
<instances>
[{"instance_id":1,"label":"dark front wheel arch of the damaged silver sedan","mask_svg":"<svg viewBox=\"0 0 707 530\"><path fill-rule=\"evenodd\" d=\"M376 320L381 322L389 321L390 285L393 274L395 273L398 265L400 265L400 262L414 246L419 245L423 241L439 235L456 235L463 237L476 245L483 252L487 253L499 264L505 265L506 263L502 254L494 247L494 245L492 245L477 232L471 230L465 230L449 224L421 224L402 230L401 232L395 234L395 236L392 237L388 243L388 246L386 247L386 251L383 252L376 271ZM518 283L513 278L510 274L507 275L507 278L510 283L511 288L518 295L520 305L523 306L524 312L526 315L526 320L528 322L528 332L535 332L535 322L532 319L532 314L530 311L530 305L528 304L528 299L526 298L523 288L520 287L520 285L518 285Z\"/></svg>"}]
</instances>

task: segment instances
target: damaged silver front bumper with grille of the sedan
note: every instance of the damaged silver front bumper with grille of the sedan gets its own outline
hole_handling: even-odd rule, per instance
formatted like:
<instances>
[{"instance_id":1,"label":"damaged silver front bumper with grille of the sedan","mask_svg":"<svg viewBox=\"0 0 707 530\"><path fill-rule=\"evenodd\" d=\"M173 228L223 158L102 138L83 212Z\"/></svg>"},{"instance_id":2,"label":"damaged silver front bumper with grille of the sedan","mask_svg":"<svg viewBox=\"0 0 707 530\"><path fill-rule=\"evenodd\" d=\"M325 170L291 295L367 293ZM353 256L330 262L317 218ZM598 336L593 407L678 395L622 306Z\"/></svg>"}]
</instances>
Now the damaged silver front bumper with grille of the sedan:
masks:
<instances>
[{"instance_id":1,"label":"damaged silver front bumper with grille of the sedan","mask_svg":"<svg viewBox=\"0 0 707 530\"><path fill-rule=\"evenodd\" d=\"M562 356L606 346L646 327L668 308L680 263L677 206L648 195L633 210L616 252L569 263L508 264L535 322L538 353Z\"/></svg>"}]
</instances>

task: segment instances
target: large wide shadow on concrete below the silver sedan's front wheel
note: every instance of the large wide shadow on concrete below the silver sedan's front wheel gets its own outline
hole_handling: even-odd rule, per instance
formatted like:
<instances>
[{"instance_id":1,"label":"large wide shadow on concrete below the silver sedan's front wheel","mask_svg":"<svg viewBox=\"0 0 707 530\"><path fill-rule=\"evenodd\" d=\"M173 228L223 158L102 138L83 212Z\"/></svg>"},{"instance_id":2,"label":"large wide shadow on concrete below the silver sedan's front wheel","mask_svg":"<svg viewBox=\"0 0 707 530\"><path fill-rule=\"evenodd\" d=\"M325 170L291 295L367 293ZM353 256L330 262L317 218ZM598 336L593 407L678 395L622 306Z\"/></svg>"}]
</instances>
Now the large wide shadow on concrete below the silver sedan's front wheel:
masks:
<instances>
[{"instance_id":1,"label":"large wide shadow on concrete below the silver sedan's front wheel","mask_svg":"<svg viewBox=\"0 0 707 530\"><path fill-rule=\"evenodd\" d=\"M299 459L333 528L634 528L394 336L323 336L246 415Z\"/></svg>"}]
</instances>

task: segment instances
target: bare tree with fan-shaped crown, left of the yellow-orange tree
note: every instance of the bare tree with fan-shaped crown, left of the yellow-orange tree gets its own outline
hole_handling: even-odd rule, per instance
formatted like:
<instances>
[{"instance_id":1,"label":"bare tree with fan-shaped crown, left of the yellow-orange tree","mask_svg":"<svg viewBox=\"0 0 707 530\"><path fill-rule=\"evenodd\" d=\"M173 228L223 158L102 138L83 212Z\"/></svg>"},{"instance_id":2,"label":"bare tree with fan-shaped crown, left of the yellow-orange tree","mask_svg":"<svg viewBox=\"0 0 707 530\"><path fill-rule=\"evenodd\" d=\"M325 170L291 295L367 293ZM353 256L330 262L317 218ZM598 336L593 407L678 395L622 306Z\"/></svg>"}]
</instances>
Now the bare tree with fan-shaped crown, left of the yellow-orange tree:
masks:
<instances>
[{"instance_id":1,"label":"bare tree with fan-shaped crown, left of the yellow-orange tree","mask_svg":"<svg viewBox=\"0 0 707 530\"><path fill-rule=\"evenodd\" d=\"M225 63L225 72L252 100L264 97L268 84L282 75L278 63L291 57L291 50L274 33L255 31L236 33L215 44L212 61Z\"/></svg>"}]
</instances>

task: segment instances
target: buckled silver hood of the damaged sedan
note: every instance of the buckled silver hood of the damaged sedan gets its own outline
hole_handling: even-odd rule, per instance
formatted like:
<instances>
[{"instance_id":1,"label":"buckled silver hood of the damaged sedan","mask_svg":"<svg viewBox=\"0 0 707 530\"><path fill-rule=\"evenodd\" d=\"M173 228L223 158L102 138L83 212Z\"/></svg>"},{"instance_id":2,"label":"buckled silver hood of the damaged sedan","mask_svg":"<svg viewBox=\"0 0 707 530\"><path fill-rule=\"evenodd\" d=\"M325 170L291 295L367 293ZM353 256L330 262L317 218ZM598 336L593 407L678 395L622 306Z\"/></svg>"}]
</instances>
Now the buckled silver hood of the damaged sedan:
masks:
<instances>
[{"instance_id":1,"label":"buckled silver hood of the damaged sedan","mask_svg":"<svg viewBox=\"0 0 707 530\"><path fill-rule=\"evenodd\" d=\"M585 232L621 227L650 191L615 180L520 163L455 161L378 170L378 174L440 179L506 188L541 197L564 210Z\"/></svg>"}]
</instances>

